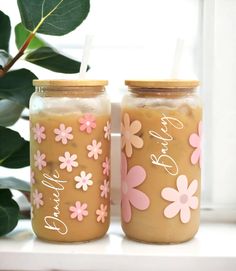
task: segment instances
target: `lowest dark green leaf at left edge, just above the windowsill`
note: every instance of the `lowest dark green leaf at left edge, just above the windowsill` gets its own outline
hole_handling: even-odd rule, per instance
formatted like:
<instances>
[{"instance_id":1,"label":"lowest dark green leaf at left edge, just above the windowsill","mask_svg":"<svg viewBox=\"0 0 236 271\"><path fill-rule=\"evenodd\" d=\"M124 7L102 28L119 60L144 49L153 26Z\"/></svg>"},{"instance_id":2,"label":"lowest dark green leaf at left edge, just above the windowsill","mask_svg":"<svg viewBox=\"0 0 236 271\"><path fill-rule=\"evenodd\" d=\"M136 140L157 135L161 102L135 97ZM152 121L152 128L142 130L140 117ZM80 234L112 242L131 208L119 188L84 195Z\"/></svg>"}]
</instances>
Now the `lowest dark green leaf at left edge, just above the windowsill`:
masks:
<instances>
[{"instance_id":1,"label":"lowest dark green leaf at left edge, just above the windowsill","mask_svg":"<svg viewBox=\"0 0 236 271\"><path fill-rule=\"evenodd\" d=\"M20 209L9 189L0 189L0 236L11 232L18 223Z\"/></svg>"}]
</instances>

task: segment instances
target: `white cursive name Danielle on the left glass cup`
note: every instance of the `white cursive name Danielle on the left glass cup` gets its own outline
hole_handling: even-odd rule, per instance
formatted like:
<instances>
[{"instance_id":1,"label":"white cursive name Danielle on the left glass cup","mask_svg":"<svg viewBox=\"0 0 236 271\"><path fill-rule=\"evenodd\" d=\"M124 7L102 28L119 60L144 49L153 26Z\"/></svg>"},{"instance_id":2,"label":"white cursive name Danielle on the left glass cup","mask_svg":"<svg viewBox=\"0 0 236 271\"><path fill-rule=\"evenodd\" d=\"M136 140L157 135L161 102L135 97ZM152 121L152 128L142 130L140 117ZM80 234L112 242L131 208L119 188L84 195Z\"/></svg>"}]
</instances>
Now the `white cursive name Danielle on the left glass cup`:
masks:
<instances>
[{"instance_id":1,"label":"white cursive name Danielle on the left glass cup","mask_svg":"<svg viewBox=\"0 0 236 271\"><path fill-rule=\"evenodd\" d=\"M61 235L65 235L68 232L66 224L59 218L60 217L60 192L64 190L64 183L67 181L60 180L59 173L55 170L55 173L50 176L43 174L44 180L42 184L53 191L53 201L55 203L52 214L45 216L44 227L46 229L57 231Z\"/></svg>"}]
</instances>

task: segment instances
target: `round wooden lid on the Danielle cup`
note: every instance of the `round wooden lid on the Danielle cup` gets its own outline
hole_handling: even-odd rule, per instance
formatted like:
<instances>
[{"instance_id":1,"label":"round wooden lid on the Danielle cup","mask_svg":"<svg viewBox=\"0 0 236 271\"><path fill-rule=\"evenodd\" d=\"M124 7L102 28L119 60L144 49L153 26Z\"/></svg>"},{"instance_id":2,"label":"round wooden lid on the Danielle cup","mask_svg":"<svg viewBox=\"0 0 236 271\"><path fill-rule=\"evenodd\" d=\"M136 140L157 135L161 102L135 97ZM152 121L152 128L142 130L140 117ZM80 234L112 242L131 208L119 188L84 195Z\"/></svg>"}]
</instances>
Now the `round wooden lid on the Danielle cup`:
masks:
<instances>
[{"instance_id":1,"label":"round wooden lid on the Danielle cup","mask_svg":"<svg viewBox=\"0 0 236 271\"><path fill-rule=\"evenodd\" d=\"M33 80L37 87L96 87L107 84L107 80Z\"/></svg>"}]
</instances>

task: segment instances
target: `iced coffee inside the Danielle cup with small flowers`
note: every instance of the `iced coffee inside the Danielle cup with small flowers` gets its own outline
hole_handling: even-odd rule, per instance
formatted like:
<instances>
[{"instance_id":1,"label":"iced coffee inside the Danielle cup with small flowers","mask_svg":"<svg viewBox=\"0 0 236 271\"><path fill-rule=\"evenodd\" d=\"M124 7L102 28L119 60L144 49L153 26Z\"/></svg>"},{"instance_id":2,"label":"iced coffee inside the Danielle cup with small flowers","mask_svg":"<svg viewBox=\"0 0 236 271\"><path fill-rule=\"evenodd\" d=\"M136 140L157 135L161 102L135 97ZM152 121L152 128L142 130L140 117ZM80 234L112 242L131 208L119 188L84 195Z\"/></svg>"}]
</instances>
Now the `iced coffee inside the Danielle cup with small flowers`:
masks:
<instances>
[{"instance_id":1,"label":"iced coffee inside the Danielle cup with small flowers","mask_svg":"<svg viewBox=\"0 0 236 271\"><path fill-rule=\"evenodd\" d=\"M36 235L44 240L87 241L102 237L109 227L110 135L104 127L110 123L110 116L95 115L96 127L90 133L80 130L83 123L84 127L91 124L85 119L80 122L83 117L76 113L39 113L30 117L32 225ZM91 147L87 148L93 146L93 141L96 159L94 153L89 157ZM69 161L65 161L65 156ZM76 176L80 187L76 187Z\"/></svg>"}]
</instances>

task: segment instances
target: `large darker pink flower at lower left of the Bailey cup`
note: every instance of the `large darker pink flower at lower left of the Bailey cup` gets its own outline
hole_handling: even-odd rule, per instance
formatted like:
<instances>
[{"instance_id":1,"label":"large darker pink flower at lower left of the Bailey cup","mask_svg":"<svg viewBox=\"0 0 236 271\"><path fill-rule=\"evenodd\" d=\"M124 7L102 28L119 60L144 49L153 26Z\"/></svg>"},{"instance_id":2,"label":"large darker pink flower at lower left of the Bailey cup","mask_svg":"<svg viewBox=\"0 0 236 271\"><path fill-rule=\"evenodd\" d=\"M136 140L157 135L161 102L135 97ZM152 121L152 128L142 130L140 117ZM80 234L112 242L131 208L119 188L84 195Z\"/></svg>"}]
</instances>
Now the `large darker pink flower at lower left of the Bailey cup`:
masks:
<instances>
[{"instance_id":1,"label":"large darker pink flower at lower left of the Bailey cup","mask_svg":"<svg viewBox=\"0 0 236 271\"><path fill-rule=\"evenodd\" d=\"M121 213L126 223L130 222L132 217L131 205L143 211L150 204L148 196L135 188L142 184L146 178L144 168L134 166L128 172L127 170L125 154L121 153Z\"/></svg>"}]
</instances>

